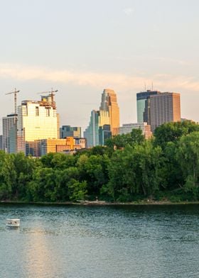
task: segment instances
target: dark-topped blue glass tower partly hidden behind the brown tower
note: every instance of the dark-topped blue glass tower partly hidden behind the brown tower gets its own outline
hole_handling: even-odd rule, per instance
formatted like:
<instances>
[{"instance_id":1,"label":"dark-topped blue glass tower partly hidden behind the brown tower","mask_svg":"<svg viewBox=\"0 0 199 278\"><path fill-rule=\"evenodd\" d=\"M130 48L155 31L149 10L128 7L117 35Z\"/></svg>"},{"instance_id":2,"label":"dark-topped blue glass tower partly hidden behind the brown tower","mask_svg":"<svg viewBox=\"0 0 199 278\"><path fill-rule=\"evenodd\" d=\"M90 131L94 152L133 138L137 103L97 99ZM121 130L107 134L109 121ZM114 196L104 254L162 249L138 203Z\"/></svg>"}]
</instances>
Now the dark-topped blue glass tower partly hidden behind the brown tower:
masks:
<instances>
[{"instance_id":1,"label":"dark-topped blue glass tower partly hidden behind the brown tower","mask_svg":"<svg viewBox=\"0 0 199 278\"><path fill-rule=\"evenodd\" d=\"M147 122L147 118L144 118L144 109L146 107L146 101L150 96L161 94L160 91L141 91L136 94L136 109L137 109L137 122L143 123Z\"/></svg>"}]
</instances>

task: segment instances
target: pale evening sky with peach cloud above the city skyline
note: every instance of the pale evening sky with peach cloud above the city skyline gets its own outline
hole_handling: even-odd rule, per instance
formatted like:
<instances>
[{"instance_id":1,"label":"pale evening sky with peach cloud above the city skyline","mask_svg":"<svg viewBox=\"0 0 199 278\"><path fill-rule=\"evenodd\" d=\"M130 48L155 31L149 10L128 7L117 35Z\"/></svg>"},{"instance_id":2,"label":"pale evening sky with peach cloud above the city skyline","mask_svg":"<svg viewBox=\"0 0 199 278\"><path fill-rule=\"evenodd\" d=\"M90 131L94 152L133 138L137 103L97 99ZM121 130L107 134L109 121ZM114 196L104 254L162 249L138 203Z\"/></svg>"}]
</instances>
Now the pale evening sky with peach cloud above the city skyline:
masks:
<instances>
[{"instance_id":1,"label":"pale evening sky with peach cloud above the city skyline","mask_svg":"<svg viewBox=\"0 0 199 278\"><path fill-rule=\"evenodd\" d=\"M198 0L0 0L1 119L55 95L60 125L89 123L114 89L120 125L136 123L136 93L181 93L181 117L199 121ZM1 133L1 131L0 131Z\"/></svg>"}]
</instances>

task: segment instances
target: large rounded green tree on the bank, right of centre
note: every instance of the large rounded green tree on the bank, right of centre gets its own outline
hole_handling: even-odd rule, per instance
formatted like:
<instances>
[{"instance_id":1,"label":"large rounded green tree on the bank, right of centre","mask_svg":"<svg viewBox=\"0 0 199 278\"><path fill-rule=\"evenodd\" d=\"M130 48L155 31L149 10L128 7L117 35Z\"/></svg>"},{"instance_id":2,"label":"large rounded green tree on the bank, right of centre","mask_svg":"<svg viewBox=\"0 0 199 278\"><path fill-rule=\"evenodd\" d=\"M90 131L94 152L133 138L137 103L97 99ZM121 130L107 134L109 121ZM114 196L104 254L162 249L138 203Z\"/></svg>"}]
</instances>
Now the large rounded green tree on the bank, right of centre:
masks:
<instances>
[{"instance_id":1,"label":"large rounded green tree on the bank, right of centre","mask_svg":"<svg viewBox=\"0 0 199 278\"><path fill-rule=\"evenodd\" d=\"M161 148L153 148L150 141L117 150L108 169L109 183L101 192L118 201L130 201L138 194L150 196L165 182Z\"/></svg>"}]
</instances>

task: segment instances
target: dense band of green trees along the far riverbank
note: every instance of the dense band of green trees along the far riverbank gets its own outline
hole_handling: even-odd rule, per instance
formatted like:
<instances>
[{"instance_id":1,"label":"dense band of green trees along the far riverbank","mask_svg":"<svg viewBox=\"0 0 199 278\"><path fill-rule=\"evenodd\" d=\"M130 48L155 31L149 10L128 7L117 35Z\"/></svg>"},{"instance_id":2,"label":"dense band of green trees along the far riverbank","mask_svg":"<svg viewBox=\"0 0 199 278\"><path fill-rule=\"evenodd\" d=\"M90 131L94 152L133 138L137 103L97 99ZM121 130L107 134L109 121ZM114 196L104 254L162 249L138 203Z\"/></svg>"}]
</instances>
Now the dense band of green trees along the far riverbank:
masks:
<instances>
[{"instance_id":1,"label":"dense band of green trees along the far riverbank","mask_svg":"<svg viewBox=\"0 0 199 278\"><path fill-rule=\"evenodd\" d=\"M199 199L199 125L165 123L145 140L139 129L106 146L41 158L0 152L1 201Z\"/></svg>"}]
</instances>

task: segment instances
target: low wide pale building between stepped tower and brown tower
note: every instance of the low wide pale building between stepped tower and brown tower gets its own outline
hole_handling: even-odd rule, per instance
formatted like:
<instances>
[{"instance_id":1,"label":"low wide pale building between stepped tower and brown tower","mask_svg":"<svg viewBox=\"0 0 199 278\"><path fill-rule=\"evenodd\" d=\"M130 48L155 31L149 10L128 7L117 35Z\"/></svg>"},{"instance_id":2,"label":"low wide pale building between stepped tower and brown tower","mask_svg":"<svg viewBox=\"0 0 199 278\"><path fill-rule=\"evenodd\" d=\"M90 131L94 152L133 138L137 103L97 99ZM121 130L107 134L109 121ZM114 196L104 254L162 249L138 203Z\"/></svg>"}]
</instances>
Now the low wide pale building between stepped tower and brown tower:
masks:
<instances>
[{"instance_id":1,"label":"low wide pale building between stepped tower and brown tower","mask_svg":"<svg viewBox=\"0 0 199 278\"><path fill-rule=\"evenodd\" d=\"M151 126L149 126L147 123L124 123L119 128L119 134L127 134L131 133L132 129L141 129L142 134L146 139L151 138L152 132L151 132Z\"/></svg>"}]
</instances>

